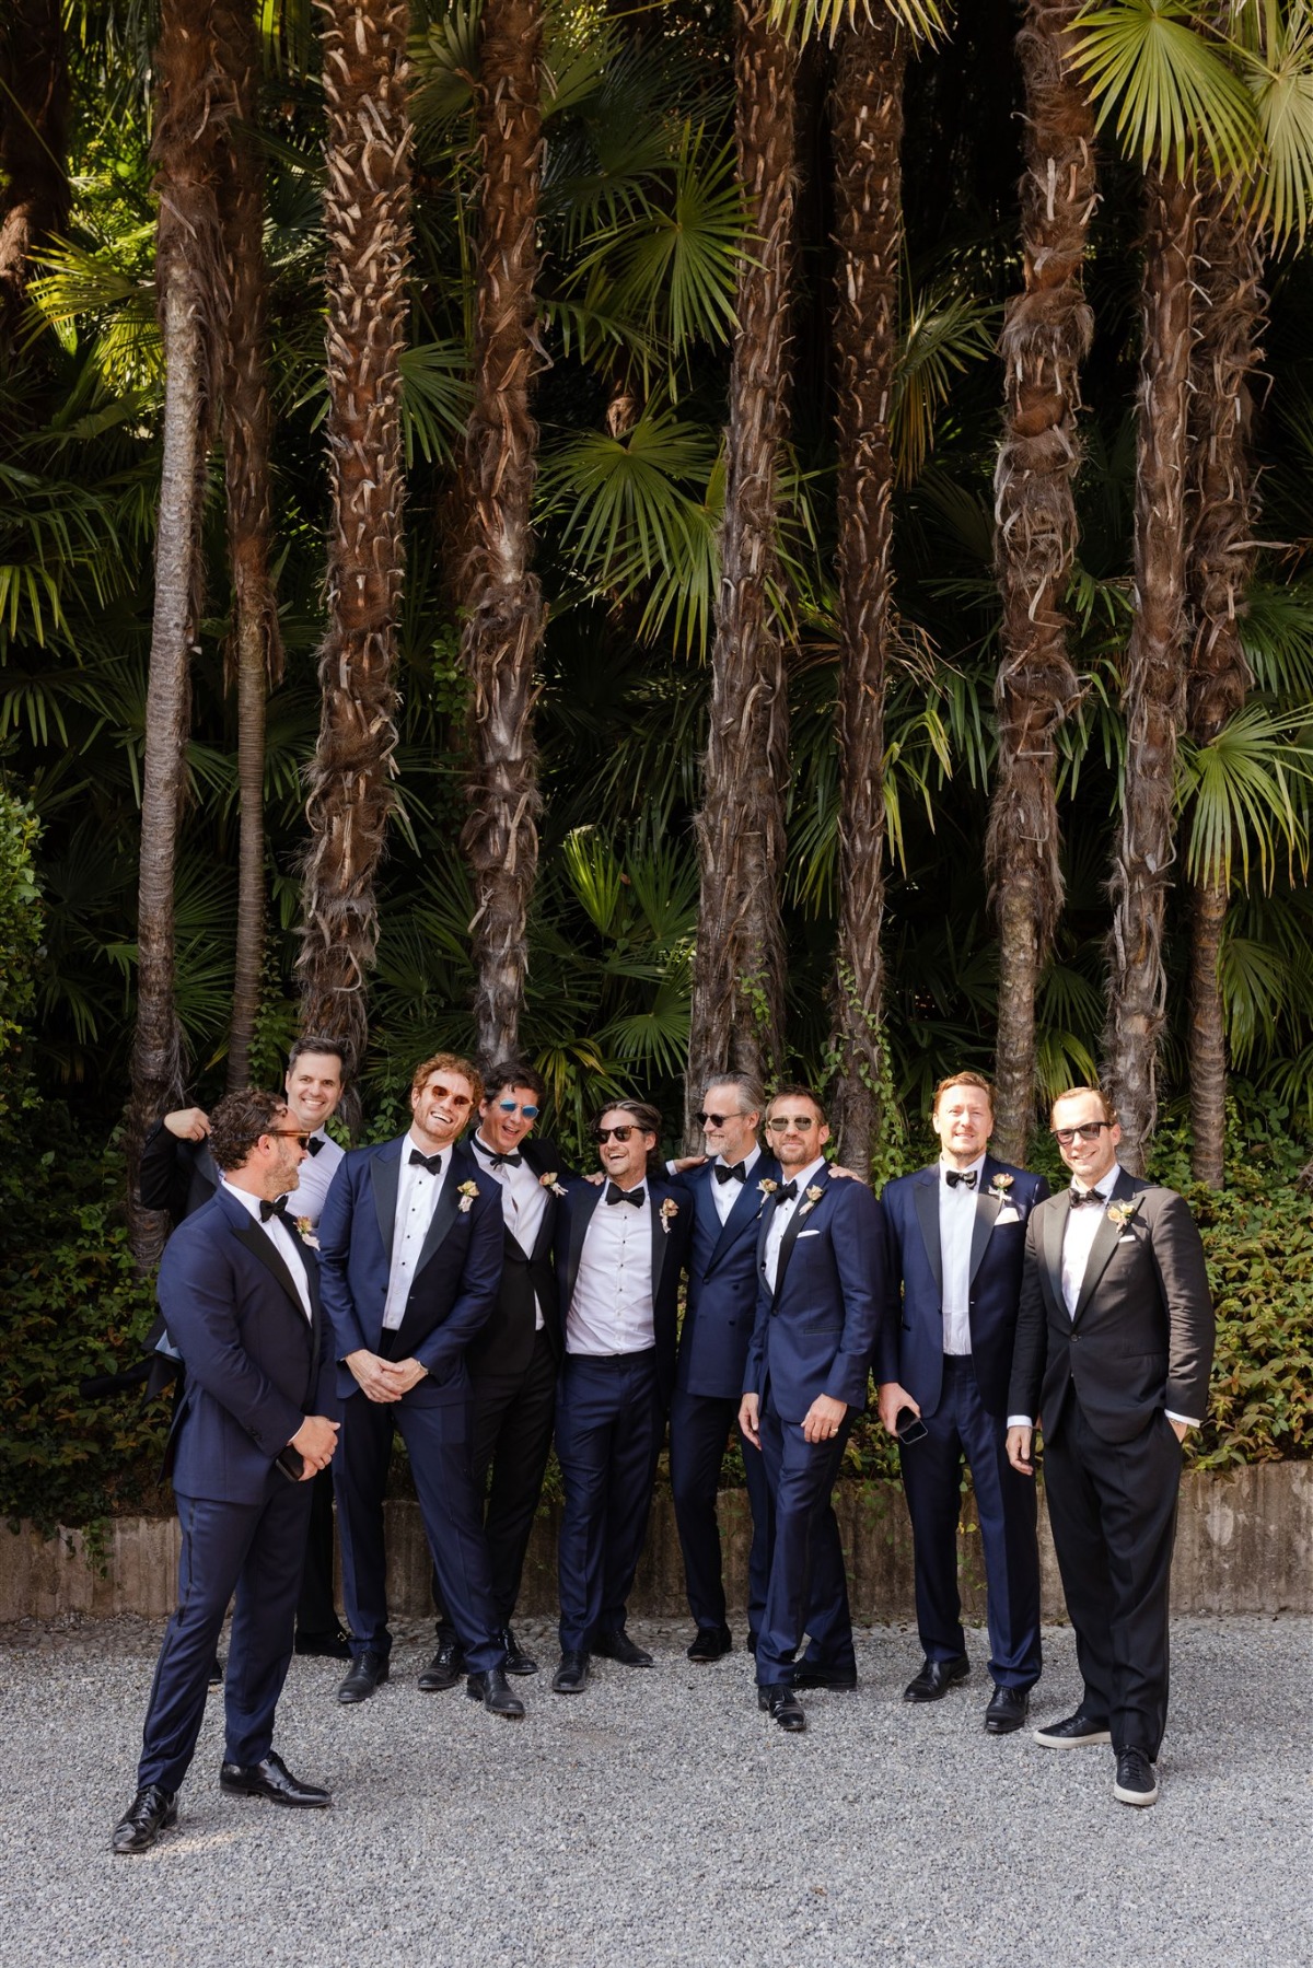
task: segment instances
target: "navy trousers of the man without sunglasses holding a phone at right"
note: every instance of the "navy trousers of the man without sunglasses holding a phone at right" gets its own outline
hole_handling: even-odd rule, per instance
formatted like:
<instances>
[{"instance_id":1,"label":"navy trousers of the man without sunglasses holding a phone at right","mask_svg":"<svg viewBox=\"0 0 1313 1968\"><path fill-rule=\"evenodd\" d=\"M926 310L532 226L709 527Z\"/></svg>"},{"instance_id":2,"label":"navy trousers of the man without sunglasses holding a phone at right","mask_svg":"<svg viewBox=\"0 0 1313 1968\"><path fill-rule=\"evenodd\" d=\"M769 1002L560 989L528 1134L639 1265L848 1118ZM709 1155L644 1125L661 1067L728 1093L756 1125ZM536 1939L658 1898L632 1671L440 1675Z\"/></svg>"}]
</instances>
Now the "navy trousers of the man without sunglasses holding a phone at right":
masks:
<instances>
[{"instance_id":1,"label":"navy trousers of the man without sunglasses holding a phone at right","mask_svg":"<svg viewBox=\"0 0 1313 1968\"><path fill-rule=\"evenodd\" d=\"M900 1446L915 1559L917 1631L927 1661L967 1651L957 1586L957 1521L963 1509L963 1462L984 1547L990 1675L1000 1689L1030 1689L1039 1679L1039 1547L1035 1482L1008 1462L1006 1425L986 1413L970 1358L945 1354L943 1393L923 1415L925 1441Z\"/></svg>"}]
</instances>

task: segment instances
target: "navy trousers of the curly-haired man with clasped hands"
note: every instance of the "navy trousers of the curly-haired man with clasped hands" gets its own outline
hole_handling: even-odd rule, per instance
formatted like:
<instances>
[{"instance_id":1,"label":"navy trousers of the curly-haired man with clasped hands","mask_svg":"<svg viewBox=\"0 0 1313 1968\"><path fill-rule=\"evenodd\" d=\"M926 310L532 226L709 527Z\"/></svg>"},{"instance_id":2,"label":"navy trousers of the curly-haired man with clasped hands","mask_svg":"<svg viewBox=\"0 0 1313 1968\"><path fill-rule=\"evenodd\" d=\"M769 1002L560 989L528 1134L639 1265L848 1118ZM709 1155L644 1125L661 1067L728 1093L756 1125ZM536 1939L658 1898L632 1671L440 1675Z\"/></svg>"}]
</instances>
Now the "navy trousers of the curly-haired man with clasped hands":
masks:
<instances>
[{"instance_id":1,"label":"navy trousers of the curly-haired man with clasped hands","mask_svg":"<svg viewBox=\"0 0 1313 1968\"><path fill-rule=\"evenodd\" d=\"M350 1651L362 1655L368 1649L384 1659L392 1651L384 1492L394 1427L409 1450L419 1515L465 1665L484 1675L504 1665L506 1649L496 1637L500 1620L492 1604L488 1543L470 1472L469 1401L435 1407L407 1399L370 1401L364 1393L343 1401L333 1470Z\"/></svg>"}]
</instances>

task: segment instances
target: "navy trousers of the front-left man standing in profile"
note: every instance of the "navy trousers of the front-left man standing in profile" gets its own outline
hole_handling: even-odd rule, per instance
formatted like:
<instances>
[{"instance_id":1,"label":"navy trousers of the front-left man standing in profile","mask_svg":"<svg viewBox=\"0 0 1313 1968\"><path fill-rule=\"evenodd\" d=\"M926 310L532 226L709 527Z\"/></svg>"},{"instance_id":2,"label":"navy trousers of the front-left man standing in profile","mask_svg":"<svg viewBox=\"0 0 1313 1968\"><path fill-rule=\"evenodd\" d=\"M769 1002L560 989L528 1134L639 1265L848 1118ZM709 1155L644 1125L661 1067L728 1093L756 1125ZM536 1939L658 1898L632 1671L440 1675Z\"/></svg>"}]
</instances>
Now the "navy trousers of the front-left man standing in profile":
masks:
<instances>
[{"instance_id":1,"label":"navy trousers of the front-left man standing in profile","mask_svg":"<svg viewBox=\"0 0 1313 1968\"><path fill-rule=\"evenodd\" d=\"M142 1730L138 1789L177 1791L197 1748L215 1647L236 1592L224 1677L224 1761L262 1763L291 1661L311 1486L270 1470L260 1504L179 1496L177 1610L163 1631Z\"/></svg>"}]
</instances>

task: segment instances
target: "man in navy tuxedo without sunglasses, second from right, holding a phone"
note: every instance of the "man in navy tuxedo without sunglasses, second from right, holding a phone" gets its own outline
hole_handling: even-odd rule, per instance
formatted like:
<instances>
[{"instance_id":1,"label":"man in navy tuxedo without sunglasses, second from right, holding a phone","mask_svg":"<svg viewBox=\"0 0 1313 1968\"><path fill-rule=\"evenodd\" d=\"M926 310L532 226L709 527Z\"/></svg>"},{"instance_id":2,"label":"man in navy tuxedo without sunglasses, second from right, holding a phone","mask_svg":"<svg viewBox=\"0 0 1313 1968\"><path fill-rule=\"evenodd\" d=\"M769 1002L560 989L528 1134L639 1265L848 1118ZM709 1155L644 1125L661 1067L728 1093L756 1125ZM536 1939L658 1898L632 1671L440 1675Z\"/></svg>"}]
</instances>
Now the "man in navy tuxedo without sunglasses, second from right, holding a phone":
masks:
<instances>
[{"instance_id":1,"label":"man in navy tuxedo without sunglasses, second from right, holding a phone","mask_svg":"<svg viewBox=\"0 0 1313 1968\"><path fill-rule=\"evenodd\" d=\"M963 1460L984 1547L990 1677L984 1728L1022 1728L1039 1679L1035 1486L1008 1462L1008 1376L1022 1293L1026 1220L1049 1185L986 1153L994 1094L978 1073L935 1088L939 1161L882 1195L890 1246L888 1317L876 1378L880 1421L900 1445L911 1515L921 1671L907 1702L935 1702L965 1681L957 1588Z\"/></svg>"}]
</instances>

